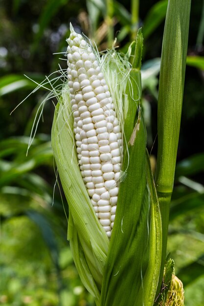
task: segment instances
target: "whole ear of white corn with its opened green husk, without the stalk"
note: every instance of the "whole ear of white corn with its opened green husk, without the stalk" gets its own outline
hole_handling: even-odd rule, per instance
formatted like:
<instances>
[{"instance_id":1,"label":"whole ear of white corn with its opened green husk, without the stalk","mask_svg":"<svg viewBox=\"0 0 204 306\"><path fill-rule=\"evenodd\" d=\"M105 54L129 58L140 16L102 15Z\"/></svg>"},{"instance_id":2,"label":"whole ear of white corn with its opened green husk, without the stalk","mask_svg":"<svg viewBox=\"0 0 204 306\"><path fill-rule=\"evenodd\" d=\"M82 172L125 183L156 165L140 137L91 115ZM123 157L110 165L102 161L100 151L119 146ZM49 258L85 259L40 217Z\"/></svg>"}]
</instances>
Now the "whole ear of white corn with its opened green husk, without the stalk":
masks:
<instances>
[{"instance_id":1,"label":"whole ear of white corn with its opened green husk, without the stalk","mask_svg":"<svg viewBox=\"0 0 204 306\"><path fill-rule=\"evenodd\" d=\"M80 58L82 58L82 54L90 55L92 51L90 46L84 42L82 43L84 40L81 36L76 35L72 29L71 31L72 36L70 40L75 41L74 44L72 44L72 42L68 40L69 48L71 49L74 46L71 52L68 48L70 54L68 55L69 89L68 86L64 87L62 96L59 98L56 107L52 127L52 147L63 190L69 205L68 239L70 241L73 259L83 284L95 297L97 305L126 305L127 301L131 306L143 305L143 301L148 301L149 303L144 304L145 306L153 305L155 290L158 284L160 259L159 240L161 233L159 231L160 215L158 201L154 193L155 187L153 180L151 180L151 169L148 163L148 156L146 155L146 130L140 106L141 31L138 31L136 53L131 70L127 69L129 65L126 65L124 60L120 60L120 57L116 55L114 51L102 57L101 64L103 66L101 66L100 69L102 69L103 75L100 74L101 71L99 71L99 68L97 75L99 75L99 81L104 78L106 84L109 85L109 90L106 87L108 96L103 97L104 99L110 98L108 103L109 106L108 109L105 109L105 107L100 104L101 101L103 101L100 96L97 97L97 101L94 101L92 104L98 103L98 109L102 109L101 112L103 112L101 115L105 116L103 120L106 121L106 128L108 123L113 124L117 122L115 127L118 129L119 121L120 127L124 133L122 172L119 172L119 159L117 162L119 165L117 171L115 171L114 168L114 171L111 171L114 175L120 173L120 179L119 176L117 177L118 182L120 181L117 198L117 213L115 214L114 226L111 226L113 231L110 229L110 225L104 225L103 222L101 222L102 218L97 215L98 212L94 208L96 205L93 205L95 204L93 203L95 189L104 187L97 186L98 188L95 188L94 186L94 188L89 188L89 186L86 186L86 189L85 184L88 183L86 178L90 176L86 176L87 173L84 174L83 172L89 171L88 175L90 175L91 170L92 175L92 171L98 171L102 169L104 165L112 165L114 167L116 164L112 163L114 156L111 154L109 160L101 160L99 164L99 167L101 167L100 169L85 170L82 167L80 169L80 166L84 165L90 165L89 167L91 168L92 164L90 155L84 156L89 157L89 163L84 163L85 159L82 159L82 151L87 151L89 154L92 151L89 150L89 148L88 150L82 150L82 144L89 145L89 138L97 137L98 139L98 135L101 134L98 133L98 131L94 132L92 129L93 125L100 121L93 122L92 118L94 116L93 114L90 116L89 113L97 109L90 110L89 107L91 105L88 106L87 101L106 92L96 94L97 90L95 91L94 88L101 87L101 85L99 86L98 83L95 82L97 81L96 79L91 79L91 81L89 79L92 76L91 73L93 73L93 70L91 70L92 72L89 70L93 69L91 65L95 62L93 55L91 55L92 62L90 61L92 64L88 63L90 65L88 70L85 69L85 71L83 70L85 67L80 66L83 63L77 63L81 61ZM80 46L83 45L84 49L82 48L83 50L80 50ZM76 47L78 47L78 49L76 49ZM84 52L85 49L86 52ZM74 53L79 53L80 58L78 54ZM72 58L76 58L72 63L71 56ZM87 57L84 55L84 59L85 58ZM95 63L94 69L97 67ZM89 73L91 76L89 76ZM85 76L82 77L82 74L86 75L86 78ZM87 80L90 81L90 85L88 85ZM86 84L81 84L83 81L85 81L84 83ZM97 85L94 88L93 82ZM91 86L91 88L89 86ZM106 85L103 86L105 87ZM85 88L88 90L87 92L85 92ZM81 106L76 104L78 98L80 98L79 103L81 102ZM79 112L79 108L81 107L84 107L84 109L86 109L86 107L88 108L85 112L88 112L87 115L89 114L89 116L87 118L91 118L92 121L90 123L84 122L82 125L78 126L80 120L86 119L81 118L81 114L84 114L84 112ZM107 110L108 112L106 113ZM97 116L100 115L98 114ZM116 116L118 119L115 119ZM91 124L90 130L86 129L86 125L89 124ZM79 128L80 131L79 129L77 130L77 128ZM94 128L100 129L100 127ZM91 135L88 135L87 133L90 131ZM86 137L83 138L84 132L86 133ZM92 133L95 135L92 135ZM109 135L106 134L106 139L102 140L110 140L109 137L112 131L104 131L104 133L109 133ZM116 150L120 147L120 149L122 149L122 136L119 131L117 134L116 137L114 136L114 142L117 144ZM74 138L76 138L76 144ZM83 139L85 139L84 143ZM98 144L99 141L100 139L98 139L98 142L96 141L96 144ZM109 142L108 146L110 146L110 143L112 142ZM102 145L99 144L98 147L96 146L94 148L94 151L101 151L99 150L100 147L102 147ZM81 156L77 156L77 153ZM110 152L105 152L104 154L109 156ZM103 155L103 153L99 152L99 156L101 155ZM121 156L119 157L121 158ZM93 179L93 177L92 175L91 179ZM107 181L111 180L112 178L107 179ZM106 181L106 178L104 178L104 181ZM98 184L101 183L98 182ZM112 190L115 188L115 186L113 186L113 188L106 188L107 190L104 190L104 194L108 192L107 194L111 197L117 197L117 195L111 195ZM99 196L101 195L103 195L103 193ZM100 199L98 199L98 201L99 200ZM112 209L115 205L113 202L110 204L111 205L107 206L111 206ZM97 203L97 206L100 206L99 203ZM107 220L112 222L110 216L113 216L113 214L110 212ZM108 230L106 226L109 226ZM110 236L109 232L111 231L111 240L109 241L108 236ZM145 289L145 286L149 287Z\"/></svg>"}]
</instances>

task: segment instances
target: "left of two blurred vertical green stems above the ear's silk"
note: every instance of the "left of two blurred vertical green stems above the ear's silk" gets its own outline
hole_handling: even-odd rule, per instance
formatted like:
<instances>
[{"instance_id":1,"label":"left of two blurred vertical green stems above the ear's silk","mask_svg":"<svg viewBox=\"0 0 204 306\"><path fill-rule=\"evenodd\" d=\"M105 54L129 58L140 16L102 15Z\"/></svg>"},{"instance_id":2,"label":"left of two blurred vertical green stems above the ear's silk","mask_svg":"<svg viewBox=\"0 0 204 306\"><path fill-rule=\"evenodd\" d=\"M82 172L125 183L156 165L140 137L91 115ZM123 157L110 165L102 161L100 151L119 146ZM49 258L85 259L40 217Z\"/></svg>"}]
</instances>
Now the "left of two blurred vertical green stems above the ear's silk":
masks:
<instances>
[{"instance_id":1,"label":"left of two blurred vertical green stems above the ear's silk","mask_svg":"<svg viewBox=\"0 0 204 306\"><path fill-rule=\"evenodd\" d=\"M113 0L106 1L106 24L108 26L107 38L108 38L108 48L113 46L114 29L113 29Z\"/></svg>"}]
</instances>

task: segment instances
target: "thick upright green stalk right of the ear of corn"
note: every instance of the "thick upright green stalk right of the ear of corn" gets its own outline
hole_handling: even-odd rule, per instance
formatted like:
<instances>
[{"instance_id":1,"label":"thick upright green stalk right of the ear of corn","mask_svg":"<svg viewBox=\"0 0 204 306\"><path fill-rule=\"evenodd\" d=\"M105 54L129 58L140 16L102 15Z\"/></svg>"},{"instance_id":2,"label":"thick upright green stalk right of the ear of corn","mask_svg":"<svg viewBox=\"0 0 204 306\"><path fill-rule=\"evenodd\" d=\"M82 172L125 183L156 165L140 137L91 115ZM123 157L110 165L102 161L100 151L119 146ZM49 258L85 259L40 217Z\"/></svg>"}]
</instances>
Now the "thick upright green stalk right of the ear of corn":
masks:
<instances>
[{"instance_id":1,"label":"thick upright green stalk right of the ear of corn","mask_svg":"<svg viewBox=\"0 0 204 306\"><path fill-rule=\"evenodd\" d=\"M162 218L160 291L179 141L191 0L169 0L161 52L156 189Z\"/></svg>"}]
</instances>

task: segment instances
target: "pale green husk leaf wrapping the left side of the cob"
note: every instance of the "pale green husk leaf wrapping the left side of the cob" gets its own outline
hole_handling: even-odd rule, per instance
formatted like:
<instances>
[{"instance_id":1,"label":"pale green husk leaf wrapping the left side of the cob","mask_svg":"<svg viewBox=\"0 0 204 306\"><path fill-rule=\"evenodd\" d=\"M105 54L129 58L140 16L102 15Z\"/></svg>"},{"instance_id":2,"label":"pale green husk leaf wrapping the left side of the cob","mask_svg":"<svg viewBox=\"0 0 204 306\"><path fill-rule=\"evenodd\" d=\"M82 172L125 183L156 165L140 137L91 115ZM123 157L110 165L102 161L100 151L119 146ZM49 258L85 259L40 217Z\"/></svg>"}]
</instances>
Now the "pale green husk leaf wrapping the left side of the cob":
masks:
<instances>
[{"instance_id":1,"label":"pale green husk leaf wrapping the left side of the cob","mask_svg":"<svg viewBox=\"0 0 204 306\"><path fill-rule=\"evenodd\" d=\"M109 239L93 210L83 182L73 136L69 91L58 101L52 125L52 149L69 205L68 240L85 287L99 300Z\"/></svg>"}]
</instances>

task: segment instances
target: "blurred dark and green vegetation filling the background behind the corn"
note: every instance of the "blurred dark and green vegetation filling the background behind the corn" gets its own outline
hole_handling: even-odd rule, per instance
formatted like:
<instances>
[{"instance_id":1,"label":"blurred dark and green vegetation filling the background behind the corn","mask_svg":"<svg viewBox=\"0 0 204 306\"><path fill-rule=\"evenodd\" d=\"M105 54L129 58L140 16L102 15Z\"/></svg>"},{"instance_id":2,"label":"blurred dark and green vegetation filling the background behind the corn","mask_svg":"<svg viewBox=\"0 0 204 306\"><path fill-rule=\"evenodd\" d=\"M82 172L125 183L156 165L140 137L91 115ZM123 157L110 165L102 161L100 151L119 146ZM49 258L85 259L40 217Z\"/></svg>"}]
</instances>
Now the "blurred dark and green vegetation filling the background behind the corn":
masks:
<instances>
[{"instance_id":1,"label":"blurred dark and green vegetation filling the background behind the corn","mask_svg":"<svg viewBox=\"0 0 204 306\"><path fill-rule=\"evenodd\" d=\"M69 22L91 37L100 50L111 47L116 36L115 46L122 52L142 26L142 105L154 166L159 57L167 0L140 2L0 1L0 305L93 305L73 265L67 219L59 189L54 188L51 99L26 156L32 123L47 91L41 88L29 95L36 84L23 74L41 82L59 69L58 63L66 68L64 54L53 53L66 51ZM176 274L184 284L186 306L204 305L203 38L204 1L194 0L168 244Z\"/></svg>"}]
</instances>

